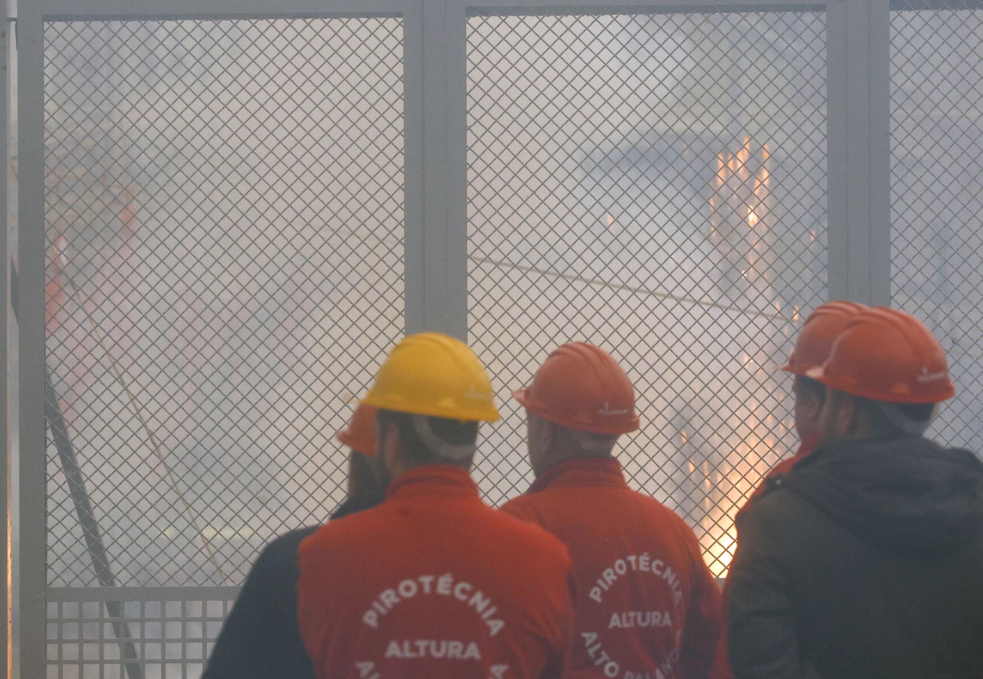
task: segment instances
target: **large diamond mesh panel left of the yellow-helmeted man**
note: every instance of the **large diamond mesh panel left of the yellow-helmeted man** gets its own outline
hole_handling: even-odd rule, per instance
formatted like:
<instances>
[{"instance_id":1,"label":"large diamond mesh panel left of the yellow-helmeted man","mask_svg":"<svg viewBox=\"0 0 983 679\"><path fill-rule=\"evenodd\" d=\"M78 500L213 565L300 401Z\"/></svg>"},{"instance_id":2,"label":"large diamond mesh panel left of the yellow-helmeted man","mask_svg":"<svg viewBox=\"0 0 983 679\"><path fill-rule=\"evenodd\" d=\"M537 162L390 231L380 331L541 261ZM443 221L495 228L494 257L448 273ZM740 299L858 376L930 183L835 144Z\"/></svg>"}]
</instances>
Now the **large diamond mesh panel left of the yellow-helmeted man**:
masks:
<instances>
[{"instance_id":1,"label":"large diamond mesh panel left of the yellow-helmeted man","mask_svg":"<svg viewBox=\"0 0 983 679\"><path fill-rule=\"evenodd\" d=\"M44 41L48 583L107 584L94 526L117 585L238 585L403 332L402 22Z\"/></svg>"}]
</instances>

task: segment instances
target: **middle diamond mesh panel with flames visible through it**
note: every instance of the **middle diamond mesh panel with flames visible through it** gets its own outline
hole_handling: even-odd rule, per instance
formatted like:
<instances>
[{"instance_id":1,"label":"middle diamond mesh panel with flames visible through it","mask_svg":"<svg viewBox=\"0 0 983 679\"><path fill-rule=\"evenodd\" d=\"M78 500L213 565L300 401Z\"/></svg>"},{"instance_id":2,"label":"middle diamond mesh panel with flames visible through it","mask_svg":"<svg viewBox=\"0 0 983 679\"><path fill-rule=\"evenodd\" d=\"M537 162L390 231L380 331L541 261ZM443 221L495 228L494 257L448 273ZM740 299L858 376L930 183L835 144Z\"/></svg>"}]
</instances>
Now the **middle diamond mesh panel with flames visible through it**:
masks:
<instances>
[{"instance_id":1,"label":"middle diamond mesh panel with flames visible through it","mask_svg":"<svg viewBox=\"0 0 983 679\"><path fill-rule=\"evenodd\" d=\"M627 475L723 574L826 296L825 14L474 16L467 78L470 341L505 404L483 491L530 481L509 390L591 341L636 385Z\"/></svg>"}]
</instances>

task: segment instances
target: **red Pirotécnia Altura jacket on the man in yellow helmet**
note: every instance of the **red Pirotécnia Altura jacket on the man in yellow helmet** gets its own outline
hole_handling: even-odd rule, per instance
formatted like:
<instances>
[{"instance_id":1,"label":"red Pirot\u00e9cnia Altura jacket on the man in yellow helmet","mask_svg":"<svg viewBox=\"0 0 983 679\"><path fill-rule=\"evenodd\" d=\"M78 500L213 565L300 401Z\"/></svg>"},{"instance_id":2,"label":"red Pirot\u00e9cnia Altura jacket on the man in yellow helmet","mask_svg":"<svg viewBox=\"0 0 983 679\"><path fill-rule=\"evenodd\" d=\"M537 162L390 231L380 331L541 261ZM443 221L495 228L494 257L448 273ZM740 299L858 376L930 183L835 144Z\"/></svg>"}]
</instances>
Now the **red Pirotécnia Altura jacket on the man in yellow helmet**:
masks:
<instances>
[{"instance_id":1,"label":"red Pirot\u00e9cnia Altura jacket on the man in yellow helmet","mask_svg":"<svg viewBox=\"0 0 983 679\"><path fill-rule=\"evenodd\" d=\"M486 506L463 469L407 472L298 557L301 635L322 679L560 676L566 549Z\"/></svg>"}]
</instances>

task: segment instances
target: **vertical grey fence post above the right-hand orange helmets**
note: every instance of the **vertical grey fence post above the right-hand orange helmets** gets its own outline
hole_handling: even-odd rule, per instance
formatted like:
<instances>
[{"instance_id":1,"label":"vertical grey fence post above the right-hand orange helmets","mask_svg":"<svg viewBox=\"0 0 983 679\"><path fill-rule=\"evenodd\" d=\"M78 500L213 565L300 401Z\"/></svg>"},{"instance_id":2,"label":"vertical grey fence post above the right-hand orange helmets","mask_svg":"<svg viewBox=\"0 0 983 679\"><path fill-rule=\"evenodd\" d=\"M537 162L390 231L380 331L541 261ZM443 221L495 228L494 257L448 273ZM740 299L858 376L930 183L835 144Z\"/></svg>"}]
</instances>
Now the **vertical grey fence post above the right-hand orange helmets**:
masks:
<instances>
[{"instance_id":1,"label":"vertical grey fence post above the right-hand orange helmets","mask_svg":"<svg viewBox=\"0 0 983 679\"><path fill-rule=\"evenodd\" d=\"M889 0L832 0L830 297L891 302Z\"/></svg>"}]
</instances>

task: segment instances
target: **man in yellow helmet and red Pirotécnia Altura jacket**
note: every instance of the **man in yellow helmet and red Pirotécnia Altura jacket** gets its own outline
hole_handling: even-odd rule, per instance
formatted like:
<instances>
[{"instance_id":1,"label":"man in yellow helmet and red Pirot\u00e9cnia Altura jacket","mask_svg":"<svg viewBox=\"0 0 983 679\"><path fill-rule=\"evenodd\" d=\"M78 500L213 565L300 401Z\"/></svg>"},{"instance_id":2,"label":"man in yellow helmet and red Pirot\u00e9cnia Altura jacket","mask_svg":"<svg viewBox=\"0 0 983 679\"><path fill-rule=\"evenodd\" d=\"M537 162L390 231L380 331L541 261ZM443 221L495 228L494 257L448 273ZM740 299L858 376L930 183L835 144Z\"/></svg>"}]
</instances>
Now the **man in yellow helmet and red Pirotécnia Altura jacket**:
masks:
<instances>
[{"instance_id":1,"label":"man in yellow helmet and red Pirot\u00e9cnia Altura jacket","mask_svg":"<svg viewBox=\"0 0 983 679\"><path fill-rule=\"evenodd\" d=\"M363 401L378 409L375 509L301 544L301 635L318 677L559 677L570 559L542 529L496 512L468 472L498 420L477 357L437 333L397 345Z\"/></svg>"}]
</instances>

